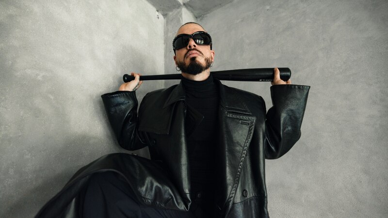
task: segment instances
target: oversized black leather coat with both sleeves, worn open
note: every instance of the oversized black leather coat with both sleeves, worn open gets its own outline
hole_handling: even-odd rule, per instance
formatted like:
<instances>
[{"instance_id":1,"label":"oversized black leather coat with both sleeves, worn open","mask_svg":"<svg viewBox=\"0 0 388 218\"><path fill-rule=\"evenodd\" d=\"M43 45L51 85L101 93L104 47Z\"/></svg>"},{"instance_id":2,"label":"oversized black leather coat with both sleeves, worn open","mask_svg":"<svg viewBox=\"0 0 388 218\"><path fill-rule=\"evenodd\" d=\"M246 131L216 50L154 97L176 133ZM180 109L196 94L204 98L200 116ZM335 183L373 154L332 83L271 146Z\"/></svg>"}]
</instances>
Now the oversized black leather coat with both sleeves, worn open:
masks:
<instances>
[{"instance_id":1,"label":"oversized black leather coat with both sleeves, worn open","mask_svg":"<svg viewBox=\"0 0 388 218\"><path fill-rule=\"evenodd\" d=\"M220 218L269 217L265 159L286 154L301 136L309 86L271 86L273 107L259 95L219 83L219 143L216 148L216 201ZM134 92L103 94L120 146L148 146L151 160L128 154L103 156L81 168L36 217L79 217L79 191L92 173L125 177L137 200L166 209L188 210L190 173L184 129L187 107L181 84L146 94L137 112ZM200 114L191 114L200 122Z\"/></svg>"}]
</instances>

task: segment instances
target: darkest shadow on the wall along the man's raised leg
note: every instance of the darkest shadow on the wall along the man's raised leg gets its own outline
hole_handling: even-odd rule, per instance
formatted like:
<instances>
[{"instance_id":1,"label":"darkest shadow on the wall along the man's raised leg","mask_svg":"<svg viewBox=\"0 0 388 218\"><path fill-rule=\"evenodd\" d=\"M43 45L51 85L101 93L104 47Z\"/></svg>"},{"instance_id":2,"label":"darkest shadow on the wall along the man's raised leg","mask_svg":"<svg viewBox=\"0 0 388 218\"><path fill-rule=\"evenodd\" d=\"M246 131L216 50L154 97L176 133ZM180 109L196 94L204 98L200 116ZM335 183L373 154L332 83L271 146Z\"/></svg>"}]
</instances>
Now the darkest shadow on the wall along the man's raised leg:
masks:
<instances>
[{"instance_id":1,"label":"darkest shadow on the wall along the man's raised leg","mask_svg":"<svg viewBox=\"0 0 388 218\"><path fill-rule=\"evenodd\" d=\"M87 150L93 148L93 145L87 145L84 141L90 141L98 143L103 141L101 138L96 139L88 135L79 135L72 139L66 139L60 145L55 148L53 155L41 156L40 162L42 165L38 166L35 170L35 184L31 186L27 191L23 192L22 195L18 196L16 202L13 202L7 207L7 211L0 217L33 217L36 215L38 210L52 198L60 189L62 189L71 176L78 171L84 164L80 156L90 154ZM96 147L100 144L96 144ZM87 147L85 151L85 147ZM66 156L69 151L74 155L71 157ZM100 152L96 152L97 154ZM88 158L85 158L86 161ZM61 169L52 169L54 161L63 163ZM73 163L73 164L71 164ZM55 166L54 166L55 167ZM51 170L47 170L47 169ZM54 173L53 173L54 172ZM28 184L25 184L25 186Z\"/></svg>"}]
</instances>

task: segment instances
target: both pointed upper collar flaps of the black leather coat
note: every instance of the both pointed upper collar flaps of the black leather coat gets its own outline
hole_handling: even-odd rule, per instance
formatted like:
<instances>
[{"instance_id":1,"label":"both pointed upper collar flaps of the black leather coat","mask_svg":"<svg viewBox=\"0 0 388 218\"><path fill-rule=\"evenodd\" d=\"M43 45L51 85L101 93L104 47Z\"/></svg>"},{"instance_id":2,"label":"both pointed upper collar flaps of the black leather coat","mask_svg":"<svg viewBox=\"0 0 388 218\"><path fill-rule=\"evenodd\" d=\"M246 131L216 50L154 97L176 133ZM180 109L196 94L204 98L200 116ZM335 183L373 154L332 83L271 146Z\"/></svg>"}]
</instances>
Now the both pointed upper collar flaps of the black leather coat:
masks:
<instances>
[{"instance_id":1,"label":"both pointed upper collar flaps of the black leather coat","mask_svg":"<svg viewBox=\"0 0 388 218\"><path fill-rule=\"evenodd\" d=\"M235 94L235 89L223 85L217 78L214 78L214 82L218 84L221 107L228 112L252 115L245 103L239 98L239 95ZM166 108L177 101L184 101L185 99L185 91L181 81L170 93L163 108Z\"/></svg>"}]
</instances>

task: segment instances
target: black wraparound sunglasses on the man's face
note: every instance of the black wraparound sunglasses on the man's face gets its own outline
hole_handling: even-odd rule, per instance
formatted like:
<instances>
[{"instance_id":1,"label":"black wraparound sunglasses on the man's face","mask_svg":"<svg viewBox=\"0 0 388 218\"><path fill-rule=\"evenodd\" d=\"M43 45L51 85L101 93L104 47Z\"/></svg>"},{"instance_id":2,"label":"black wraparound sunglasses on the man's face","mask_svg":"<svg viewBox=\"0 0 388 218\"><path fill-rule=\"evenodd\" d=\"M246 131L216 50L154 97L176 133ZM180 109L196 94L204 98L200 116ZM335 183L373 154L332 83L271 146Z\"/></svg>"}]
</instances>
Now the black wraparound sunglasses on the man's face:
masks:
<instances>
[{"instance_id":1,"label":"black wraparound sunglasses on the man's face","mask_svg":"<svg viewBox=\"0 0 388 218\"><path fill-rule=\"evenodd\" d=\"M207 32L204 31L198 31L194 32L193 34L179 34L177 37L173 40L173 49L175 50L186 47L189 45L190 38L192 38L195 42L195 44L203 46L207 45L210 46L211 49L211 37Z\"/></svg>"}]
</instances>

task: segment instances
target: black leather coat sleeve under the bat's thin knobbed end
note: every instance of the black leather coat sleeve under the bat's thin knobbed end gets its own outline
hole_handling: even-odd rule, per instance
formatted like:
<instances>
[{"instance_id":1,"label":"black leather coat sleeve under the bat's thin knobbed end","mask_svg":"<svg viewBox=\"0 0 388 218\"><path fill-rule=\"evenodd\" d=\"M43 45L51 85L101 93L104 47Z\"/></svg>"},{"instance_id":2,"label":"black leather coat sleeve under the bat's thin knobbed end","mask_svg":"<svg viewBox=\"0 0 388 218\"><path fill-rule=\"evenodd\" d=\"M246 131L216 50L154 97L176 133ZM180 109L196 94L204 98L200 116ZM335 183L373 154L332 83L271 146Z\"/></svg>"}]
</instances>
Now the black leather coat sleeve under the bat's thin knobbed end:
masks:
<instances>
[{"instance_id":1,"label":"black leather coat sleeve under the bat's thin knobbed end","mask_svg":"<svg viewBox=\"0 0 388 218\"><path fill-rule=\"evenodd\" d=\"M137 98L135 92L117 91L101 95L109 123L121 147L137 150L146 146L137 131Z\"/></svg>"}]
</instances>

